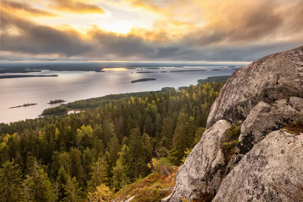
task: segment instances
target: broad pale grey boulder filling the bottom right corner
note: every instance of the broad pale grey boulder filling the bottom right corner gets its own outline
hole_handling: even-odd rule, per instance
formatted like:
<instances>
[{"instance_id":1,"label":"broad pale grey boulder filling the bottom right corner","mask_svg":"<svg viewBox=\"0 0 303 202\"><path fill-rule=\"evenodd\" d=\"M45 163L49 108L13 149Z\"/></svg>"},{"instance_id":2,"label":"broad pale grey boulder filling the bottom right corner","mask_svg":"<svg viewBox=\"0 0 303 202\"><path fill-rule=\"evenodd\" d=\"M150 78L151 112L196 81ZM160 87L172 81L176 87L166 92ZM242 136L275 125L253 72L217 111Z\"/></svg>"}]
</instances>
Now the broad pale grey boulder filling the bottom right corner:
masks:
<instances>
[{"instance_id":1,"label":"broad pale grey boulder filling the bottom right corner","mask_svg":"<svg viewBox=\"0 0 303 202\"><path fill-rule=\"evenodd\" d=\"M213 201L300 201L302 179L303 133L274 131L222 180Z\"/></svg>"}]
</instances>

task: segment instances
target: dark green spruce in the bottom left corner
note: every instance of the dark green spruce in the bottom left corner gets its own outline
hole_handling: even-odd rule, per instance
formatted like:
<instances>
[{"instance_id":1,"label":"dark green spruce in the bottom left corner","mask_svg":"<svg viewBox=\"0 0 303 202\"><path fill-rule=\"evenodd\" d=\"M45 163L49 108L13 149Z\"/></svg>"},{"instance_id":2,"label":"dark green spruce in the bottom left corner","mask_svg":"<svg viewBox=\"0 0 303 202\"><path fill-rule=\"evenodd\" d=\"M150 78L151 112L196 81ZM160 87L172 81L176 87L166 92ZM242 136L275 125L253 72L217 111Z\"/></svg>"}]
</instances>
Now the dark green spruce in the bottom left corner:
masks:
<instances>
[{"instance_id":1,"label":"dark green spruce in the bottom left corner","mask_svg":"<svg viewBox=\"0 0 303 202\"><path fill-rule=\"evenodd\" d=\"M6 161L0 169L0 201L23 201L22 173L18 164Z\"/></svg>"}]
</instances>

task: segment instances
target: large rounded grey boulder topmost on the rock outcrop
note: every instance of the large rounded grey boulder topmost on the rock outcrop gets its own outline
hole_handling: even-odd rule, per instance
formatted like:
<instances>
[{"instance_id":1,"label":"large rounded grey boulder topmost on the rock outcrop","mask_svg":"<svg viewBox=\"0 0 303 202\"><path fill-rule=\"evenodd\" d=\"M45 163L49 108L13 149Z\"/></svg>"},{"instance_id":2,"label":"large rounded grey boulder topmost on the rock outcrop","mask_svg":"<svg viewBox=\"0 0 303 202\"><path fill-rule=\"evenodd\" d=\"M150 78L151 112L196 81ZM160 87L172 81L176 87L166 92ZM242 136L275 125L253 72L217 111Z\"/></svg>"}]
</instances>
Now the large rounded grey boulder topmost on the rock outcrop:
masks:
<instances>
[{"instance_id":1,"label":"large rounded grey boulder topmost on the rock outcrop","mask_svg":"<svg viewBox=\"0 0 303 202\"><path fill-rule=\"evenodd\" d=\"M303 46L258 59L229 77L211 107L207 128L221 119L244 121L260 101L303 98L302 86Z\"/></svg>"}]
</instances>

